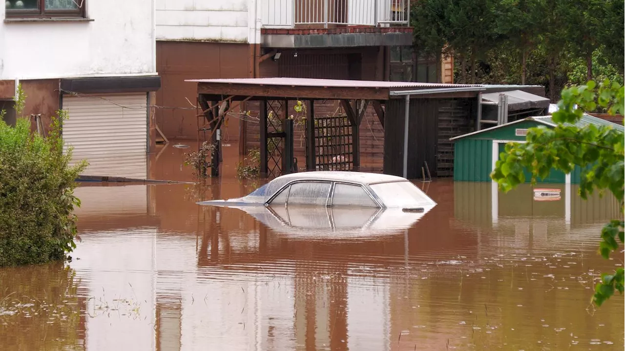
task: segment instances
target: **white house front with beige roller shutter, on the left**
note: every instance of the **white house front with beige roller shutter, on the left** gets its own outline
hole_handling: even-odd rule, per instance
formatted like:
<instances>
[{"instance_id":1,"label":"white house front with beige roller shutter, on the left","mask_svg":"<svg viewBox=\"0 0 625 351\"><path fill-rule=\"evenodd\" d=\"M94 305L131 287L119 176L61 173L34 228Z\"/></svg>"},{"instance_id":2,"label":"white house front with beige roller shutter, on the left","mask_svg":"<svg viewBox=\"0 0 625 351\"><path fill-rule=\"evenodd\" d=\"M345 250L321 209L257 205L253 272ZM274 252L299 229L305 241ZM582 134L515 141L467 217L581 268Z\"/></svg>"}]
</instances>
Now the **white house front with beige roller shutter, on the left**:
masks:
<instances>
[{"instance_id":1,"label":"white house front with beige roller shutter, on the left","mask_svg":"<svg viewBox=\"0 0 625 351\"><path fill-rule=\"evenodd\" d=\"M154 0L8 0L0 9L0 104L43 131L68 111L63 138L86 174L146 177L153 149L156 73ZM111 164L117 165L111 169ZM126 165L126 166L124 166ZM98 174L106 167L108 174Z\"/></svg>"}]
</instances>

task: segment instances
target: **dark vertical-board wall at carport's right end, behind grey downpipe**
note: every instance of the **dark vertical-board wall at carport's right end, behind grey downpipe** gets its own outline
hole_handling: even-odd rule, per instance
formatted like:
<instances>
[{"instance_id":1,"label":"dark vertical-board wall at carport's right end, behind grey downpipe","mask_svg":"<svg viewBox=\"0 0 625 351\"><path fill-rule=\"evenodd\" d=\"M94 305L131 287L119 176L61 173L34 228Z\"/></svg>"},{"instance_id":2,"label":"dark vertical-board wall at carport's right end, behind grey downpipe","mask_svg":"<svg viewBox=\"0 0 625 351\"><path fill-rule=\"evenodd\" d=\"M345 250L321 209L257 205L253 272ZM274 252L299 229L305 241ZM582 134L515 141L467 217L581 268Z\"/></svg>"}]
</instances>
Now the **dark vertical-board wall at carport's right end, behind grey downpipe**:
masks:
<instances>
[{"instance_id":1,"label":"dark vertical-board wall at carport's right end, behind grey downpipe","mask_svg":"<svg viewBox=\"0 0 625 351\"><path fill-rule=\"evenodd\" d=\"M390 100L386 104L384 121L384 173L403 175L404 167L404 99ZM436 99L412 99L408 125L409 179L421 179L421 167L427 162L432 177L437 176L436 146L438 139L438 109Z\"/></svg>"}]
</instances>

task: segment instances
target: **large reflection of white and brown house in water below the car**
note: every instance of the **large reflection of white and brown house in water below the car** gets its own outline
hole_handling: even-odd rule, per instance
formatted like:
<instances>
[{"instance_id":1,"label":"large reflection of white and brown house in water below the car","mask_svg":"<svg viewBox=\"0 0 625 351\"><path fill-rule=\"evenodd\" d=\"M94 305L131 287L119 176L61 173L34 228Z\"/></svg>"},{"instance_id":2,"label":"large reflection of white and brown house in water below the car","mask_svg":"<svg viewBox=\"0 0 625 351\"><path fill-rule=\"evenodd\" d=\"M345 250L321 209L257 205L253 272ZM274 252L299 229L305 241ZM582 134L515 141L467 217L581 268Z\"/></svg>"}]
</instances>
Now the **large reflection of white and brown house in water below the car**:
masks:
<instances>
[{"instance_id":1,"label":"large reflection of white and brown house in water below the car","mask_svg":"<svg viewBox=\"0 0 625 351\"><path fill-rule=\"evenodd\" d=\"M466 232L430 235L448 230L451 202L409 233L301 240L237 209L199 207L181 195L186 186L77 189L83 244L72 265L89 277L88 294L127 299L131 309L141 302L140 318L88 319L88 347L390 350L403 328L391 324L391 300L401 296L372 270L405 267L441 246L450 255L475 247Z\"/></svg>"}]
</instances>

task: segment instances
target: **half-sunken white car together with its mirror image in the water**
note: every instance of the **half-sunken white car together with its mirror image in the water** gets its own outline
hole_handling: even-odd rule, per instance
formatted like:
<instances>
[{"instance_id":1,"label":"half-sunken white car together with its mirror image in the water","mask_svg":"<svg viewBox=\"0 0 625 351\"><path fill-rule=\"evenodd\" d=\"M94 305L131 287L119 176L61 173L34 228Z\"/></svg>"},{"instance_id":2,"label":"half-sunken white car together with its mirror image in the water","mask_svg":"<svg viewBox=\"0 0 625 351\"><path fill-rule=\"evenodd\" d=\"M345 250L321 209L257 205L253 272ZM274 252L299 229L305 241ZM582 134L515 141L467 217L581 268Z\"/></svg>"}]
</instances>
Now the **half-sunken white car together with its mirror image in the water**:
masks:
<instances>
[{"instance_id":1,"label":"half-sunken white car together with its mirror image in the water","mask_svg":"<svg viewBox=\"0 0 625 351\"><path fill-rule=\"evenodd\" d=\"M436 202L402 177L321 171L282 175L247 196L198 204L235 207L278 232L309 239L396 234Z\"/></svg>"}]
</instances>

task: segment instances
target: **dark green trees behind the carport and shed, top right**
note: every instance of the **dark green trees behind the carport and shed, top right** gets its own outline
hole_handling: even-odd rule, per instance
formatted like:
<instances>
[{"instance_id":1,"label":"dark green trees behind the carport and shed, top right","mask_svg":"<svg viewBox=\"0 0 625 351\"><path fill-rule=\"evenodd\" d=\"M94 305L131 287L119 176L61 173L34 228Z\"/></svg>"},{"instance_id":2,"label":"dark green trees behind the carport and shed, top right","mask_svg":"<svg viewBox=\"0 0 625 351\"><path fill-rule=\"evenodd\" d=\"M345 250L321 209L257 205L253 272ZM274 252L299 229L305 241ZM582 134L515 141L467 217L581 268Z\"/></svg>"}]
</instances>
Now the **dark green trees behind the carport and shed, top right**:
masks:
<instances>
[{"instance_id":1,"label":"dark green trees behind the carport and shed, top right","mask_svg":"<svg viewBox=\"0 0 625 351\"><path fill-rule=\"evenodd\" d=\"M541 84L556 101L625 76L623 0L419 0L411 26L419 54L454 56L456 82Z\"/></svg>"}]
</instances>

